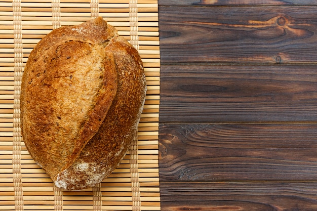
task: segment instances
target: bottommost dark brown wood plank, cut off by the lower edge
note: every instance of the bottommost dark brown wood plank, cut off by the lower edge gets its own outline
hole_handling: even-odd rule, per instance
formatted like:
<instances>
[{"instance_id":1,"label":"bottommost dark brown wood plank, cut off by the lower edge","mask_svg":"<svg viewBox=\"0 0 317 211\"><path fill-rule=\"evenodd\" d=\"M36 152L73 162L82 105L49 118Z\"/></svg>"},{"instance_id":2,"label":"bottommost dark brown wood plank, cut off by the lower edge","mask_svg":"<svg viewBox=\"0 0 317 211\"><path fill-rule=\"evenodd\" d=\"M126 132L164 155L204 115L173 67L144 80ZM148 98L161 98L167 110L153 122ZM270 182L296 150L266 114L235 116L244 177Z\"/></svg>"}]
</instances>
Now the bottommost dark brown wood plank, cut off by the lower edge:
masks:
<instances>
[{"instance_id":1,"label":"bottommost dark brown wood plank, cut off by the lower edge","mask_svg":"<svg viewBox=\"0 0 317 211\"><path fill-rule=\"evenodd\" d=\"M316 183L161 183L162 211L313 211Z\"/></svg>"}]
</instances>

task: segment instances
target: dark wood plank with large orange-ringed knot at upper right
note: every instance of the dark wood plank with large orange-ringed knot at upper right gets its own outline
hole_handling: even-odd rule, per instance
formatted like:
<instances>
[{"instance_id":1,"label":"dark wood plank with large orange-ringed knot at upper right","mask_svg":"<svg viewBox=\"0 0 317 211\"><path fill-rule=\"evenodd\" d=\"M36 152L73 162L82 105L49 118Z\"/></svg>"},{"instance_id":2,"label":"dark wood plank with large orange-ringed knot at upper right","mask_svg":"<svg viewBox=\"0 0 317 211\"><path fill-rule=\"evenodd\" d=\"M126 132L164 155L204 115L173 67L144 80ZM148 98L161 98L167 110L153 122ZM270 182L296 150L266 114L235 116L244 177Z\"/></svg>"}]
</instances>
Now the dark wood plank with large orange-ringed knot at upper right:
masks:
<instances>
[{"instance_id":1,"label":"dark wood plank with large orange-ringed knot at upper right","mask_svg":"<svg viewBox=\"0 0 317 211\"><path fill-rule=\"evenodd\" d=\"M317 7L160 7L161 63L317 62Z\"/></svg>"}]
</instances>

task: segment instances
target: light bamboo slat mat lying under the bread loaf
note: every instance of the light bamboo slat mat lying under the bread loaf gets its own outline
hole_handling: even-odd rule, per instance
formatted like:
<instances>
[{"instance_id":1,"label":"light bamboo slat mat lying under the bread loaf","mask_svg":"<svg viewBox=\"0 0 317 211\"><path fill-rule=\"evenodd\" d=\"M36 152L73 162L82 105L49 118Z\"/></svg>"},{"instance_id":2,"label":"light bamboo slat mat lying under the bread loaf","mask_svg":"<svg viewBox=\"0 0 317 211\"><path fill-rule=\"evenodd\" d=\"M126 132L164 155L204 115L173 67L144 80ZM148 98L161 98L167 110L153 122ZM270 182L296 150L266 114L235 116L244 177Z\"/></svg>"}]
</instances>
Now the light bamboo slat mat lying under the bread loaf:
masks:
<instances>
[{"instance_id":1,"label":"light bamboo slat mat lying under the bread loaf","mask_svg":"<svg viewBox=\"0 0 317 211\"><path fill-rule=\"evenodd\" d=\"M160 43L157 1L0 2L0 210L160 210ZM94 188L62 191L28 154L20 134L20 82L28 55L52 29L102 16L139 51L147 96L138 136Z\"/></svg>"}]
</instances>

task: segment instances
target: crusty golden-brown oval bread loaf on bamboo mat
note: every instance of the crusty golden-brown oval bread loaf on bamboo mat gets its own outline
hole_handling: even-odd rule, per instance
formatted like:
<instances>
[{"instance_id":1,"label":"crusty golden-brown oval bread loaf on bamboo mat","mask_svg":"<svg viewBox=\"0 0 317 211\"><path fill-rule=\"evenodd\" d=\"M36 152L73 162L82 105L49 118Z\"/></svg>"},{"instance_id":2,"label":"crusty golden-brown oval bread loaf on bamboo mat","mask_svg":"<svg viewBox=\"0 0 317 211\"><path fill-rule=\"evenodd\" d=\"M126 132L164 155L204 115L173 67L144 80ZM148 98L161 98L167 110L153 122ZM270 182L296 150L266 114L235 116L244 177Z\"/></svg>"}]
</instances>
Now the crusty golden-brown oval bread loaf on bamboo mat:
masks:
<instances>
[{"instance_id":1,"label":"crusty golden-brown oval bread loaf on bamboo mat","mask_svg":"<svg viewBox=\"0 0 317 211\"><path fill-rule=\"evenodd\" d=\"M92 187L129 149L145 92L138 52L101 17L55 29L22 77L26 148L57 187Z\"/></svg>"}]
</instances>

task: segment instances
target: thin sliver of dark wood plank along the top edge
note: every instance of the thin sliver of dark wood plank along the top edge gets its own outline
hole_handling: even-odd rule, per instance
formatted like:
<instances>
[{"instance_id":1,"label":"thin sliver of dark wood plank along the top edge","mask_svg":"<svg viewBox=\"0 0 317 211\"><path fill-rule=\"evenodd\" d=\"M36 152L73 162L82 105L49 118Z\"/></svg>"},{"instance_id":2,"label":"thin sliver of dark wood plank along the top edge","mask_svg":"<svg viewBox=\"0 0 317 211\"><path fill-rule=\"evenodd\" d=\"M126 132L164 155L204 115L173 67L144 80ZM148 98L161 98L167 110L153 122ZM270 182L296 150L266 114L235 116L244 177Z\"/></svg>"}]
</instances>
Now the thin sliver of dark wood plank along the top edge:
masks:
<instances>
[{"instance_id":1,"label":"thin sliver of dark wood plank along the top edge","mask_svg":"<svg viewBox=\"0 0 317 211\"><path fill-rule=\"evenodd\" d=\"M317 5L315 0L159 0L160 6L285 6Z\"/></svg>"}]
</instances>

